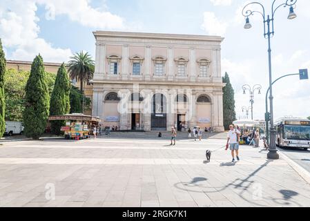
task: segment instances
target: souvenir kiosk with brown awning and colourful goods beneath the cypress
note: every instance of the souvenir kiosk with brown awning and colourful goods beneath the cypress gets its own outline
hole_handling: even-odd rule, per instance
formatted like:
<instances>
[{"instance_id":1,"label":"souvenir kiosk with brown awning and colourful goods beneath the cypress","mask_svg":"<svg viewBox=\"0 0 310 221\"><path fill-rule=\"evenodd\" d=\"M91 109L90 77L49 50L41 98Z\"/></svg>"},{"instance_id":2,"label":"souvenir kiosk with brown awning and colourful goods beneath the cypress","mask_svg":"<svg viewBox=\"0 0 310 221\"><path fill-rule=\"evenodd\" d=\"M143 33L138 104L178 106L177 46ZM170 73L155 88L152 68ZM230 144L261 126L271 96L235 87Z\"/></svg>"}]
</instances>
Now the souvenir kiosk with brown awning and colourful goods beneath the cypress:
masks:
<instances>
[{"instance_id":1,"label":"souvenir kiosk with brown awning and colourful goods beneath the cypress","mask_svg":"<svg viewBox=\"0 0 310 221\"><path fill-rule=\"evenodd\" d=\"M68 115L53 115L48 117L48 120L64 120L66 122L66 126L61 126L61 131L64 131L65 138L68 140L81 140L89 138L92 127L98 127L98 124L101 121L99 117L77 113Z\"/></svg>"}]
</instances>

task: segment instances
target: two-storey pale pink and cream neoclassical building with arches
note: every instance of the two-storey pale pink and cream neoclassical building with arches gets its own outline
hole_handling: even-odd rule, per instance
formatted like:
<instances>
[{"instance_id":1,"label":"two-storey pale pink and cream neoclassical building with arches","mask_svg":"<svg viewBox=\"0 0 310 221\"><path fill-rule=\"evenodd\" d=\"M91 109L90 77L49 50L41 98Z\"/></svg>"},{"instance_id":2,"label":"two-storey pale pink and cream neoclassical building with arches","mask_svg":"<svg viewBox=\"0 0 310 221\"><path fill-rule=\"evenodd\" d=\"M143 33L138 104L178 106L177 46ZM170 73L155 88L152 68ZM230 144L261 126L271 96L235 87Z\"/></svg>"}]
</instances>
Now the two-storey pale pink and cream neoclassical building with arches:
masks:
<instances>
[{"instance_id":1,"label":"two-storey pale pink and cream neoclassical building with arches","mask_svg":"<svg viewBox=\"0 0 310 221\"><path fill-rule=\"evenodd\" d=\"M224 131L222 37L93 33L93 115L121 130Z\"/></svg>"}]
</instances>

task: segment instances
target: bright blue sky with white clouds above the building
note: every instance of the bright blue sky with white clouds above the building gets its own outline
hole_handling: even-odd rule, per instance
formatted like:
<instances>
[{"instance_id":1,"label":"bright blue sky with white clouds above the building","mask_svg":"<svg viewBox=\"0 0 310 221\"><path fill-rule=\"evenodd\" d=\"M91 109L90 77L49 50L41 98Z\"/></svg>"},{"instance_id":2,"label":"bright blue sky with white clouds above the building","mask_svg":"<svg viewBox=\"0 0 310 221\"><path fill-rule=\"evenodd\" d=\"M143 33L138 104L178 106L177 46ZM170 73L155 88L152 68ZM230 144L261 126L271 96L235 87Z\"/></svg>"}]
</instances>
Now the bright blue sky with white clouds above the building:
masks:
<instances>
[{"instance_id":1,"label":"bright blue sky with white clouds above the building","mask_svg":"<svg viewBox=\"0 0 310 221\"><path fill-rule=\"evenodd\" d=\"M276 0L279 6L286 0ZM296 1L296 0L288 0ZM264 99L269 85L267 39L262 16L250 17L244 29L244 0L1 0L0 38L7 59L32 61L39 53L47 62L68 61L85 50L95 56L95 30L120 30L197 35L219 35L222 75L229 74L235 90L237 118L244 118L249 91L242 86L262 85L255 91L254 119L264 119ZM271 0L260 0L271 15ZM275 12L271 39L273 79L310 69L310 1L297 0L296 19L289 8ZM254 10L260 10L255 7ZM275 119L310 116L310 80L284 78L273 87Z\"/></svg>"}]
</instances>

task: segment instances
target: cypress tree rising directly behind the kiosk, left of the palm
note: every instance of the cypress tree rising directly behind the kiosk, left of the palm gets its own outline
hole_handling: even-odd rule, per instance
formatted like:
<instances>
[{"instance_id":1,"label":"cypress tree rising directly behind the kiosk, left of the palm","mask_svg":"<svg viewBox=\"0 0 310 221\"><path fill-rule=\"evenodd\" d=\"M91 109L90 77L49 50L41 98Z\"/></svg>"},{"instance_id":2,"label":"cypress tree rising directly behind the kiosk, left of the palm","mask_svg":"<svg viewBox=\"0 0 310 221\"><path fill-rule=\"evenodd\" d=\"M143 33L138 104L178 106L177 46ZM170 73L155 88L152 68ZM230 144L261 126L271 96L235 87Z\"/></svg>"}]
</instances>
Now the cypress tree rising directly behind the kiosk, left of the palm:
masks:
<instances>
[{"instance_id":1,"label":"cypress tree rising directly behind the kiosk, left of the palm","mask_svg":"<svg viewBox=\"0 0 310 221\"><path fill-rule=\"evenodd\" d=\"M65 115L70 111L70 81L65 68L61 64L55 80L55 86L50 97L50 115ZM64 126L63 120L50 122L52 133L60 135L61 126Z\"/></svg>"}]
</instances>

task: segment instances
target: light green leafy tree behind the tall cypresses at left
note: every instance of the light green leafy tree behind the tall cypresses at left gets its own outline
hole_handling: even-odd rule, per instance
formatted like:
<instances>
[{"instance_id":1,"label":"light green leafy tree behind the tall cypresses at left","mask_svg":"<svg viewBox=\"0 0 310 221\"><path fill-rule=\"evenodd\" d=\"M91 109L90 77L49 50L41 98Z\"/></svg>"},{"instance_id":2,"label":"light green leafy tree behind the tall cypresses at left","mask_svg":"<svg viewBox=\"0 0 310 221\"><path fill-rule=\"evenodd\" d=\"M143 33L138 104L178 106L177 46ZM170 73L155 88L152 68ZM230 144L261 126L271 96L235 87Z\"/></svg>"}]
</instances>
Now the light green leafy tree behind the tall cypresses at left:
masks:
<instances>
[{"instance_id":1,"label":"light green leafy tree behind the tall cypresses at left","mask_svg":"<svg viewBox=\"0 0 310 221\"><path fill-rule=\"evenodd\" d=\"M23 121L23 111L25 109L25 88L29 78L29 71L17 71L15 69L6 70L4 90L6 91L6 120ZM50 95L55 84L54 73L46 73L48 91Z\"/></svg>"}]
</instances>

